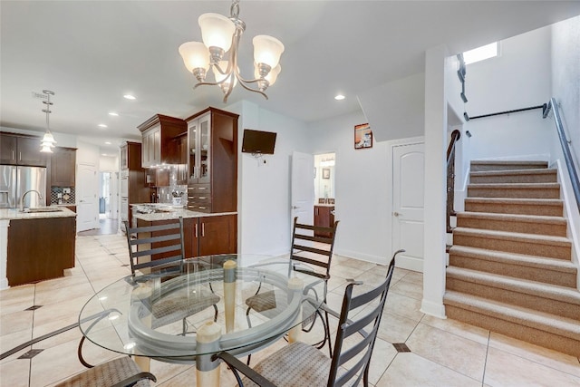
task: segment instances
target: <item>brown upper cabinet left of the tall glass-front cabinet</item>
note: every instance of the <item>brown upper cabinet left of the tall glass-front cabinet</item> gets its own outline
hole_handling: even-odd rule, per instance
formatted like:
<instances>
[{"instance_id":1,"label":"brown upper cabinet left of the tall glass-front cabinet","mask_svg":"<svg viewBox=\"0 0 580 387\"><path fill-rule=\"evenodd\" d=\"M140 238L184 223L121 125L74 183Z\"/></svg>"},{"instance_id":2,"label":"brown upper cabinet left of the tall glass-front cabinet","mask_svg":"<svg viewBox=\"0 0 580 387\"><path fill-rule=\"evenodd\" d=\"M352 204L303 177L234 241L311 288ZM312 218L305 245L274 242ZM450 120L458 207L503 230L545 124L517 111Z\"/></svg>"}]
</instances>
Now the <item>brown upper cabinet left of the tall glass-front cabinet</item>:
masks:
<instances>
[{"instance_id":1,"label":"brown upper cabinet left of the tall glass-front cabinet","mask_svg":"<svg viewBox=\"0 0 580 387\"><path fill-rule=\"evenodd\" d=\"M180 150L187 133L186 121L156 114L137 128L142 136L142 168L184 163Z\"/></svg>"}]
</instances>

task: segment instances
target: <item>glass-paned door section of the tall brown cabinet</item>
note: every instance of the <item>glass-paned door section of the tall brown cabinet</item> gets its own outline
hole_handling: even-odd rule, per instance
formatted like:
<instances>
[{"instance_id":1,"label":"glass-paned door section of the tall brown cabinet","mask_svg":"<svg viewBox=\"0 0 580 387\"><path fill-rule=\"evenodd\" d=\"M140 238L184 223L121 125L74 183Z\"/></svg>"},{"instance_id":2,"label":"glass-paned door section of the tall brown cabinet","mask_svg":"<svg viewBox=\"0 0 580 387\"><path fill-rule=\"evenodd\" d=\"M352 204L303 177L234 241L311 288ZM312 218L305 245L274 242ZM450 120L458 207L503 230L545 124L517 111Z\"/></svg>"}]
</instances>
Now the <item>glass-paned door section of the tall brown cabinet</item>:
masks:
<instances>
[{"instance_id":1,"label":"glass-paned door section of the tall brown cabinet","mask_svg":"<svg viewBox=\"0 0 580 387\"><path fill-rule=\"evenodd\" d=\"M206 113L188 122L189 178L188 184L210 182L211 169L211 114Z\"/></svg>"}]
</instances>

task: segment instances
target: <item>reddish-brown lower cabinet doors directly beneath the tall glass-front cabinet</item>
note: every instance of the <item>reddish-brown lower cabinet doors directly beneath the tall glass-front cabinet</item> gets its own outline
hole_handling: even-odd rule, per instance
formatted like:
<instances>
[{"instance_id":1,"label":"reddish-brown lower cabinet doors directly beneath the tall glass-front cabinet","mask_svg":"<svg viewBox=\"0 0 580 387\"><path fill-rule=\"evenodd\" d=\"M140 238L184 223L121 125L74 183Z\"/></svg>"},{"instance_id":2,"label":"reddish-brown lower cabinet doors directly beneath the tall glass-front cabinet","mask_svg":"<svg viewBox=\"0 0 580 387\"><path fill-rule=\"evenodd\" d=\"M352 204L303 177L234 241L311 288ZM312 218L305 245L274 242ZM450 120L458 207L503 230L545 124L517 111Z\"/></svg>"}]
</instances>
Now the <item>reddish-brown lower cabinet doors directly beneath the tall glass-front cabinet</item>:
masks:
<instances>
[{"instance_id":1,"label":"reddish-brown lower cabinet doors directly beneath the tall glass-front cabinet","mask_svg":"<svg viewBox=\"0 0 580 387\"><path fill-rule=\"evenodd\" d=\"M237 216L199 218L199 256L237 252Z\"/></svg>"}]
</instances>

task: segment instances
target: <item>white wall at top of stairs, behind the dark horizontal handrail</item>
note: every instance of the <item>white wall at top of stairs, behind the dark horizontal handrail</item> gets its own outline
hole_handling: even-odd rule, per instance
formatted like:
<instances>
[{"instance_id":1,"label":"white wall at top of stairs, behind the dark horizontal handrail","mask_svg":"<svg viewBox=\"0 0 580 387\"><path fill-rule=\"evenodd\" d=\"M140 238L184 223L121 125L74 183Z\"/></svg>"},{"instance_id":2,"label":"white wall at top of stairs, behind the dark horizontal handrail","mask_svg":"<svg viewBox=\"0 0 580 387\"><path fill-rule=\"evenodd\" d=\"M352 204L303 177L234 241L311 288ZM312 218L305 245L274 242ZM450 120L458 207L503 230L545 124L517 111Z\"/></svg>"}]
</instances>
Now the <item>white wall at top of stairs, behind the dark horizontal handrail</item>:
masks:
<instances>
[{"instance_id":1,"label":"white wall at top of stairs, behind the dark horizontal handrail","mask_svg":"<svg viewBox=\"0 0 580 387\"><path fill-rule=\"evenodd\" d=\"M500 43L500 55L468 64L466 94L470 117L548 102L551 95L550 27L517 35ZM468 121L460 146L469 160L548 160L554 124L542 111L522 111Z\"/></svg>"}]
</instances>

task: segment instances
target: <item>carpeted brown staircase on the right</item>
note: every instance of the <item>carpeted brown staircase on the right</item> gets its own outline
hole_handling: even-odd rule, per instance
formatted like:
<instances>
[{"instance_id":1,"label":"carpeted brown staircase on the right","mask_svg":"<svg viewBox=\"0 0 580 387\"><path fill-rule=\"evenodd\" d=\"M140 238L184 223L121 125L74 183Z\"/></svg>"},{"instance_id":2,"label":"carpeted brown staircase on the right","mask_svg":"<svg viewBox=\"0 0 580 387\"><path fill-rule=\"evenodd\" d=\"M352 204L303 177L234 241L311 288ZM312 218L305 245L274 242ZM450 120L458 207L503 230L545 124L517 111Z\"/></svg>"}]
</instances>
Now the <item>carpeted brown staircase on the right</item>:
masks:
<instances>
[{"instance_id":1,"label":"carpeted brown staircase on the right","mask_svg":"<svg viewBox=\"0 0 580 387\"><path fill-rule=\"evenodd\" d=\"M446 314L580 357L580 292L556 169L472 161L449 248Z\"/></svg>"}]
</instances>

